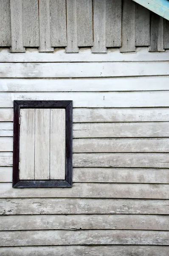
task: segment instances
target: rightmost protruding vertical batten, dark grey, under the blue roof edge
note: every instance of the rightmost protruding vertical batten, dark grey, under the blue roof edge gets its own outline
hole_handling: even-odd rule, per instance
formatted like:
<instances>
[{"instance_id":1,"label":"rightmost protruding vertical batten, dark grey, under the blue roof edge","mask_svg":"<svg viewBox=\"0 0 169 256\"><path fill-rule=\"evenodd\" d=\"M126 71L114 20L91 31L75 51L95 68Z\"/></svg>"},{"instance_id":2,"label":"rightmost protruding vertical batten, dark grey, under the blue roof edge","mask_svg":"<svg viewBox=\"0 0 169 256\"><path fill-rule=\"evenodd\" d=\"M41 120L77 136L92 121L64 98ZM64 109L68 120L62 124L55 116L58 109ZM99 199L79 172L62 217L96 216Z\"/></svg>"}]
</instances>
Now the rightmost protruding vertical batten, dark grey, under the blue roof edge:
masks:
<instances>
[{"instance_id":1,"label":"rightmost protruding vertical batten, dark grey, under the blue roof edge","mask_svg":"<svg viewBox=\"0 0 169 256\"><path fill-rule=\"evenodd\" d=\"M163 17L151 12L150 18L150 52L162 52L163 49Z\"/></svg>"}]
</instances>

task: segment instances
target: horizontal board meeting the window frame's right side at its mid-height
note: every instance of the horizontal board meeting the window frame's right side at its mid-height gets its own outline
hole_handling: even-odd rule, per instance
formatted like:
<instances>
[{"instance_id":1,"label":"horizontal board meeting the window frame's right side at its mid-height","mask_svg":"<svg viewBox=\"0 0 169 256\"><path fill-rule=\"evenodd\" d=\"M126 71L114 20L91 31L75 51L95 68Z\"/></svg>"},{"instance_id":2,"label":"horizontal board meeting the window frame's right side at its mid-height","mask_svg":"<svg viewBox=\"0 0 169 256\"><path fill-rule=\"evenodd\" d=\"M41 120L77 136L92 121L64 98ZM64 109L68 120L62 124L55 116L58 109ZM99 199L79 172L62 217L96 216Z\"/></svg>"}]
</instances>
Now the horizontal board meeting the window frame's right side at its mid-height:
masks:
<instances>
[{"instance_id":1,"label":"horizontal board meeting the window frame's right side at its mid-height","mask_svg":"<svg viewBox=\"0 0 169 256\"><path fill-rule=\"evenodd\" d=\"M168 138L74 139L74 153L169 152ZM145 156L146 157L146 156ZM130 167L130 166L128 166Z\"/></svg>"}]
</instances>

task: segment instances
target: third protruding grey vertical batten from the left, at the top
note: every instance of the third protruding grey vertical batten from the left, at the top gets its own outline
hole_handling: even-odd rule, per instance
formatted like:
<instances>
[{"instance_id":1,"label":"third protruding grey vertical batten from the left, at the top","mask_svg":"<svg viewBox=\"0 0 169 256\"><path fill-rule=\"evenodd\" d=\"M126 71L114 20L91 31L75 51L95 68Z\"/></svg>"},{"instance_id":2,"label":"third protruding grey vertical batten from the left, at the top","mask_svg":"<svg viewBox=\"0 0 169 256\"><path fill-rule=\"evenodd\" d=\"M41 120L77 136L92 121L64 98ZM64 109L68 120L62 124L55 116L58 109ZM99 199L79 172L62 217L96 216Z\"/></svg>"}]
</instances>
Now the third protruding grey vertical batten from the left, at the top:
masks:
<instances>
[{"instance_id":1,"label":"third protruding grey vertical batten from the left, at the top","mask_svg":"<svg viewBox=\"0 0 169 256\"><path fill-rule=\"evenodd\" d=\"M79 52L77 46L77 12L76 0L66 0L67 47L65 52Z\"/></svg>"}]
</instances>

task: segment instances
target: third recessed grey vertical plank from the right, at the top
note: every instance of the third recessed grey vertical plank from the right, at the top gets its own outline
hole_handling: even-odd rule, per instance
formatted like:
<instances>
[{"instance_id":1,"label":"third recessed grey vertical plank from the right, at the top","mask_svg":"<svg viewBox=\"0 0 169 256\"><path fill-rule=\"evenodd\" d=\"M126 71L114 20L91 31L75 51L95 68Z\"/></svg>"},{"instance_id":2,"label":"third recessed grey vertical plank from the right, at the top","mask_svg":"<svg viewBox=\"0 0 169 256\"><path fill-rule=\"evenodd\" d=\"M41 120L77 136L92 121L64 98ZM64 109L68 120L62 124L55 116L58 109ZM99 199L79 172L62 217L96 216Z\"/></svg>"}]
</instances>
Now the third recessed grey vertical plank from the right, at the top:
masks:
<instances>
[{"instance_id":1,"label":"third recessed grey vertical plank from the right, at the top","mask_svg":"<svg viewBox=\"0 0 169 256\"><path fill-rule=\"evenodd\" d=\"M121 0L106 0L106 47L121 47Z\"/></svg>"}]
</instances>

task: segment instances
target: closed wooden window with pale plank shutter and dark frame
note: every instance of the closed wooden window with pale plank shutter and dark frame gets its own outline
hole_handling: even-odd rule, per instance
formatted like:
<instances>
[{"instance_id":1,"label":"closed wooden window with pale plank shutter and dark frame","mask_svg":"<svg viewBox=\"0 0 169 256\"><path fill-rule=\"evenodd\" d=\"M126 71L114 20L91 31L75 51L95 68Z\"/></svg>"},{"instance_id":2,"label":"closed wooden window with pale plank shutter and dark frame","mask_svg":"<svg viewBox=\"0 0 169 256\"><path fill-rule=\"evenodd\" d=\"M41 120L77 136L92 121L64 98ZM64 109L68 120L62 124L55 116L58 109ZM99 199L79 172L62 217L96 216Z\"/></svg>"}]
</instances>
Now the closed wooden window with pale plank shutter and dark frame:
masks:
<instances>
[{"instance_id":1,"label":"closed wooden window with pale plank shutter and dark frame","mask_svg":"<svg viewBox=\"0 0 169 256\"><path fill-rule=\"evenodd\" d=\"M72 186L72 101L14 101L13 187Z\"/></svg>"}]
</instances>

